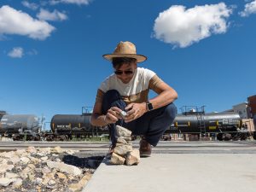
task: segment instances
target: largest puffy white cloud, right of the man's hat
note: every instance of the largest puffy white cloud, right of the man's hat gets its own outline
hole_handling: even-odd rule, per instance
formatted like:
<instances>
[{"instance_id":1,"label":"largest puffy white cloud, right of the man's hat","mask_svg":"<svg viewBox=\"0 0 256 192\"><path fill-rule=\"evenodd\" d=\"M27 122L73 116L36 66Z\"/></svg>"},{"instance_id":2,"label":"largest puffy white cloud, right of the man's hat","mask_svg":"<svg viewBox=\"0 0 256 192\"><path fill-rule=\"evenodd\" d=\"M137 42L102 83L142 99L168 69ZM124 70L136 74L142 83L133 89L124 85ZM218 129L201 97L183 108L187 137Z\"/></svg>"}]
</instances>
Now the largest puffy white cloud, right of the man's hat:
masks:
<instances>
[{"instance_id":1,"label":"largest puffy white cloud, right of the man's hat","mask_svg":"<svg viewBox=\"0 0 256 192\"><path fill-rule=\"evenodd\" d=\"M232 9L225 3L195 6L186 9L182 5L174 5L160 13L154 20L154 38L160 39L174 47L187 47L212 34L227 31L225 20Z\"/></svg>"}]
</instances>

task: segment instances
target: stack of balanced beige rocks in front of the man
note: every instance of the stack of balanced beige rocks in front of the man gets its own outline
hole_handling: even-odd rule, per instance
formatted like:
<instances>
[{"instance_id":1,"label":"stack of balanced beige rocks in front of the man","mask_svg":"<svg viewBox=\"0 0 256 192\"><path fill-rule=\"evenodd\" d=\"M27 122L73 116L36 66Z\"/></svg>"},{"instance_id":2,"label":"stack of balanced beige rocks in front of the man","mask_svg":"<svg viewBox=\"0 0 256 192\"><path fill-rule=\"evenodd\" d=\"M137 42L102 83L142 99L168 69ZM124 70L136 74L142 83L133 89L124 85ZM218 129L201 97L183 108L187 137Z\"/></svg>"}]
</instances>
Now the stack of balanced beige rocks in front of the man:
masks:
<instances>
[{"instance_id":1,"label":"stack of balanced beige rocks in front of the man","mask_svg":"<svg viewBox=\"0 0 256 192\"><path fill-rule=\"evenodd\" d=\"M113 148L110 163L113 165L137 165L140 162L140 152L132 149L131 131L116 125L117 143Z\"/></svg>"}]
</instances>

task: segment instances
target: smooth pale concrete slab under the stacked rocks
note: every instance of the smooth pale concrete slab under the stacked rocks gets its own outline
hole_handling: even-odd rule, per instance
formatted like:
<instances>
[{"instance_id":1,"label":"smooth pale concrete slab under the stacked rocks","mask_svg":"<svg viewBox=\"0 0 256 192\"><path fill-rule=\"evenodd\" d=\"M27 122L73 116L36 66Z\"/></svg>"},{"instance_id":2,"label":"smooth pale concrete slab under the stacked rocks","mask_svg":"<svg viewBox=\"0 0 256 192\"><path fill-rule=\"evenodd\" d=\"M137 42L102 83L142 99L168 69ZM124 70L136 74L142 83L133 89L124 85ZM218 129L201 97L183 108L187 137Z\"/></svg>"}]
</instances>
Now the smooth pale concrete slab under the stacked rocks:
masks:
<instances>
[{"instance_id":1,"label":"smooth pale concrete slab under the stacked rocks","mask_svg":"<svg viewBox=\"0 0 256 192\"><path fill-rule=\"evenodd\" d=\"M98 167L83 192L255 192L256 154L152 154Z\"/></svg>"}]
</instances>

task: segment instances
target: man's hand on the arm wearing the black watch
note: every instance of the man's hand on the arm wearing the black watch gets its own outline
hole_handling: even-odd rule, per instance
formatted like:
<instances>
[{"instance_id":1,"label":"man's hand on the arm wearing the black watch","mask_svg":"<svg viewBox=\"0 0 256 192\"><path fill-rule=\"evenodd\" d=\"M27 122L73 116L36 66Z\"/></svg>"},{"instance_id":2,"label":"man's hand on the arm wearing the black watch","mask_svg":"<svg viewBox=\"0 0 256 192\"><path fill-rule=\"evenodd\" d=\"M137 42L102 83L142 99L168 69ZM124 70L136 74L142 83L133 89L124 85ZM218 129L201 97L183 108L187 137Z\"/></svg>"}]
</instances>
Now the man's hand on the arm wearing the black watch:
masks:
<instances>
[{"instance_id":1,"label":"man's hand on the arm wearing the black watch","mask_svg":"<svg viewBox=\"0 0 256 192\"><path fill-rule=\"evenodd\" d=\"M128 123L132 120L138 119L147 112L146 103L131 103L125 108L127 114L125 116L125 123Z\"/></svg>"}]
</instances>

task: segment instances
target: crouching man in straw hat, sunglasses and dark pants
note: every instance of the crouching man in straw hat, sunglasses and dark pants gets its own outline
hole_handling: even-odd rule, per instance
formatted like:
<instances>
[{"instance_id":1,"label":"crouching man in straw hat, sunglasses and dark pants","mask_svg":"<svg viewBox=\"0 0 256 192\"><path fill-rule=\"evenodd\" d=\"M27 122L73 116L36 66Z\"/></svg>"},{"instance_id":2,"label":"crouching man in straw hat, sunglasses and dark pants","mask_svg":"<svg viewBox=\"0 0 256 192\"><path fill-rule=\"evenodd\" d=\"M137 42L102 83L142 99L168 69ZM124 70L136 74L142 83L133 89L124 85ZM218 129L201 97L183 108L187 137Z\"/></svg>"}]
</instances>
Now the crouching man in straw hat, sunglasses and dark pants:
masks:
<instances>
[{"instance_id":1,"label":"crouching man in straw hat, sunglasses and dark pants","mask_svg":"<svg viewBox=\"0 0 256 192\"><path fill-rule=\"evenodd\" d=\"M137 67L137 63L147 57L137 55L131 42L120 42L113 54L103 57L112 61L114 71L97 90L90 123L108 125L112 148L116 144L115 125L131 130L133 135L143 135L140 155L148 157L151 145L157 145L177 115L173 104L177 92L153 71ZM158 96L148 100L149 90L154 90Z\"/></svg>"}]
</instances>

